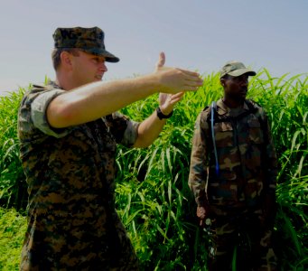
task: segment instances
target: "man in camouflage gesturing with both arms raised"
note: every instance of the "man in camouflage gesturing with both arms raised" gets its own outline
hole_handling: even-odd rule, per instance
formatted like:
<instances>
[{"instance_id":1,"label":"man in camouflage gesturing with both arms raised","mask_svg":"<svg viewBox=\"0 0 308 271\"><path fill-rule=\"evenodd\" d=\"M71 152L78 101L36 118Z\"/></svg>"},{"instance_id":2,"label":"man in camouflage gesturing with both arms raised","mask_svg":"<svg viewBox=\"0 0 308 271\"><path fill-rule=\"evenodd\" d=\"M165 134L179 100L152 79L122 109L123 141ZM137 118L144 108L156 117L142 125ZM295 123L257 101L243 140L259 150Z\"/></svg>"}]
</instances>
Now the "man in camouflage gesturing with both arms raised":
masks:
<instances>
[{"instance_id":1,"label":"man in camouflage gesturing with both arms raised","mask_svg":"<svg viewBox=\"0 0 308 271\"><path fill-rule=\"evenodd\" d=\"M106 51L98 27L58 28L52 52L56 80L27 92L18 135L29 185L28 228L21 270L137 270L138 262L114 199L117 144L150 145L183 90L202 85L199 74L163 67L103 83ZM155 92L160 106L136 123L117 113Z\"/></svg>"}]
</instances>

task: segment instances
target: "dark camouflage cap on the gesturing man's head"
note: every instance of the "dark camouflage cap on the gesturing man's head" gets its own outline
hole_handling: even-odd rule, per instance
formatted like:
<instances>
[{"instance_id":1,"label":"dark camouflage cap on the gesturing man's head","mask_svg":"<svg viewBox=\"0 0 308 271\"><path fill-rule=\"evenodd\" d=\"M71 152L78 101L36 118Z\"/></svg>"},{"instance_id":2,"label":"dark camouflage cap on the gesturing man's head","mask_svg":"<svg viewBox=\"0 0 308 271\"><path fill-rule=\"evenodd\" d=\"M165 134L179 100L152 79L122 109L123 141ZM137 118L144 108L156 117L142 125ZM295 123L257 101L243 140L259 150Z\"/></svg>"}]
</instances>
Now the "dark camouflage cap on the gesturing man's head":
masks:
<instances>
[{"instance_id":1,"label":"dark camouflage cap on the gesturing man's head","mask_svg":"<svg viewBox=\"0 0 308 271\"><path fill-rule=\"evenodd\" d=\"M119 59L106 51L104 32L98 27L57 28L53 33L55 48L78 48L106 58L108 62L117 62Z\"/></svg>"}]
</instances>

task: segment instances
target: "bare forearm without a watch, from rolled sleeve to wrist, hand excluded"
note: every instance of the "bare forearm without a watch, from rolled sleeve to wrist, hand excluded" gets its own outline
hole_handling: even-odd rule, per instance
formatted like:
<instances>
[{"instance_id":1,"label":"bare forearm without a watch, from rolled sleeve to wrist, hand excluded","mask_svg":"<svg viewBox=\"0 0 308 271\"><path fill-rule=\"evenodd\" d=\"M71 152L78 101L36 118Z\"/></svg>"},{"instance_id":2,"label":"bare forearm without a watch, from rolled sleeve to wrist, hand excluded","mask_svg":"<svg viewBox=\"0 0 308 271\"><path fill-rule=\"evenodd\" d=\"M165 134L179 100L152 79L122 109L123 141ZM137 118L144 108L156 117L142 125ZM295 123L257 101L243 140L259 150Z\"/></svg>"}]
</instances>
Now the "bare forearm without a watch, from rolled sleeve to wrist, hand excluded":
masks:
<instances>
[{"instance_id":1,"label":"bare forearm without a watch, from rolled sleeve to wrist, hand excluded","mask_svg":"<svg viewBox=\"0 0 308 271\"><path fill-rule=\"evenodd\" d=\"M157 88L151 75L91 83L54 98L47 109L48 121L55 128L87 123L152 95Z\"/></svg>"}]
</instances>

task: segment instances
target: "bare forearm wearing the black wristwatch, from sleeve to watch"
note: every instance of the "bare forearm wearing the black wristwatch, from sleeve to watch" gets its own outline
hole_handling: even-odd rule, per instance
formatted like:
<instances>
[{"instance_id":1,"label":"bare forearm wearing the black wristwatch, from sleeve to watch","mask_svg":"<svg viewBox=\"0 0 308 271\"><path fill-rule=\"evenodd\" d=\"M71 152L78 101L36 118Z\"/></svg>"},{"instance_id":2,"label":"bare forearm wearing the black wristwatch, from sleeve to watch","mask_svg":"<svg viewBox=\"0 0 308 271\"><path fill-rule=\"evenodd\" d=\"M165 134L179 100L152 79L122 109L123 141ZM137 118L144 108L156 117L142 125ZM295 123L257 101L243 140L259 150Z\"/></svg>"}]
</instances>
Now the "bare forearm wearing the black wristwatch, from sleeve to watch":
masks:
<instances>
[{"instance_id":1,"label":"bare forearm wearing the black wristwatch, from sleeve to watch","mask_svg":"<svg viewBox=\"0 0 308 271\"><path fill-rule=\"evenodd\" d=\"M150 117L147 117L138 127L138 137L134 147L144 148L151 145L165 125L165 119L159 119L154 112Z\"/></svg>"}]
</instances>

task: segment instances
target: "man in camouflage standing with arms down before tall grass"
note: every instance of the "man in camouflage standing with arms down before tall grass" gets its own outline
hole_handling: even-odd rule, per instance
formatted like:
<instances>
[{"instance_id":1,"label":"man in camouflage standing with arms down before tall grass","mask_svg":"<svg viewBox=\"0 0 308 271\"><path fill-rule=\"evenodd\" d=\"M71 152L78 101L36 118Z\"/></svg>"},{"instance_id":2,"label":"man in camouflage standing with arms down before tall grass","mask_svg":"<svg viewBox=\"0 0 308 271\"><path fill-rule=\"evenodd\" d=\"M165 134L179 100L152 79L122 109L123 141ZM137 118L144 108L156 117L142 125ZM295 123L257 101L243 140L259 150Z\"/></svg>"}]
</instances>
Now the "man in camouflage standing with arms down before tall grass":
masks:
<instances>
[{"instance_id":1,"label":"man in camouflage standing with arms down before tall grass","mask_svg":"<svg viewBox=\"0 0 308 271\"><path fill-rule=\"evenodd\" d=\"M266 113L246 99L248 76L255 75L229 61L220 72L224 97L206 107L195 125L189 186L200 225L210 226L210 270L231 270L232 261L237 270L276 268L271 234L277 162Z\"/></svg>"}]
</instances>

